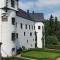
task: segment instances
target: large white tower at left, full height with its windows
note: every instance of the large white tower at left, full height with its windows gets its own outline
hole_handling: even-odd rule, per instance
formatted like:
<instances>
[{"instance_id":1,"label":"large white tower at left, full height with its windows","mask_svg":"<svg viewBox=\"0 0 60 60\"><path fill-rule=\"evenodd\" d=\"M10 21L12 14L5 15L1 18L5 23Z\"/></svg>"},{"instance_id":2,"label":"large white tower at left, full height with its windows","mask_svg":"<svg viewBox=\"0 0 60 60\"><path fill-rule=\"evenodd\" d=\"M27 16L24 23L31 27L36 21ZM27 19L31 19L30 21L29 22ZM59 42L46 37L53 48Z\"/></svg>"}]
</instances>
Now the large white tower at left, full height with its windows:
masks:
<instances>
[{"instance_id":1,"label":"large white tower at left, full height with its windows","mask_svg":"<svg viewBox=\"0 0 60 60\"><path fill-rule=\"evenodd\" d=\"M18 0L0 0L0 42L3 57L16 54L15 17L18 10Z\"/></svg>"}]
</instances>

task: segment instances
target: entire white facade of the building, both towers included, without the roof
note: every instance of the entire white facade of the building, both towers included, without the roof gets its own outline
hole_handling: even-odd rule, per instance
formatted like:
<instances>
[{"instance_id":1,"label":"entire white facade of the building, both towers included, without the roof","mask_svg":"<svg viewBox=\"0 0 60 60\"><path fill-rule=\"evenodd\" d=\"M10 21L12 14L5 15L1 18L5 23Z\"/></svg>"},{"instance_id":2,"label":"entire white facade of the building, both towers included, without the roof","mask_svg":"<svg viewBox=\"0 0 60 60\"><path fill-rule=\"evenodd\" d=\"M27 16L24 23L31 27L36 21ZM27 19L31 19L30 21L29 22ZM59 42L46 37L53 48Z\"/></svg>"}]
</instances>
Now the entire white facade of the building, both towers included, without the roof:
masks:
<instances>
[{"instance_id":1,"label":"entire white facade of the building, both towers included, without the roof","mask_svg":"<svg viewBox=\"0 0 60 60\"><path fill-rule=\"evenodd\" d=\"M16 55L16 50L23 46L26 49L35 48L36 43L35 31L37 32L37 47L42 48L42 40L41 40L42 27L44 27L44 24L42 22L34 22L16 16L16 11L18 10L17 1L15 1L15 7L13 8L11 7L11 0L8 0L7 7L9 8L9 10L7 12L5 11L5 9L2 9L5 6L6 6L6 0L0 0L0 42L2 42L1 46L2 56L7 57ZM2 16L7 16L7 21L3 21ZM15 18L15 25L12 24L12 18ZM21 23L22 23L22 29L21 29ZM40 30L38 29L38 26L41 27ZM18 38L15 37L14 41L12 40L12 33L18 33Z\"/></svg>"}]
</instances>

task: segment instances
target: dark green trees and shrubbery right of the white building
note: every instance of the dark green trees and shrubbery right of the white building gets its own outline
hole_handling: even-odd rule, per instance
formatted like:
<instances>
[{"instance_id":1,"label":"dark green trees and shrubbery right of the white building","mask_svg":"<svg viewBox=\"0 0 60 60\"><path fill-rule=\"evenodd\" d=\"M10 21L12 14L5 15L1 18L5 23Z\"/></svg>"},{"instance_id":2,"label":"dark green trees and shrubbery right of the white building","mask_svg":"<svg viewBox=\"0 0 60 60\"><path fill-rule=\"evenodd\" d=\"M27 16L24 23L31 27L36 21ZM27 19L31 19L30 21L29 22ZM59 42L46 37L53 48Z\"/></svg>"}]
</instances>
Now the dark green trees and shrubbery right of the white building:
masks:
<instances>
[{"instance_id":1,"label":"dark green trees and shrubbery right of the white building","mask_svg":"<svg viewBox=\"0 0 60 60\"><path fill-rule=\"evenodd\" d=\"M49 20L45 20L45 40L46 47L60 44L60 22L57 17L50 16Z\"/></svg>"}]
</instances>

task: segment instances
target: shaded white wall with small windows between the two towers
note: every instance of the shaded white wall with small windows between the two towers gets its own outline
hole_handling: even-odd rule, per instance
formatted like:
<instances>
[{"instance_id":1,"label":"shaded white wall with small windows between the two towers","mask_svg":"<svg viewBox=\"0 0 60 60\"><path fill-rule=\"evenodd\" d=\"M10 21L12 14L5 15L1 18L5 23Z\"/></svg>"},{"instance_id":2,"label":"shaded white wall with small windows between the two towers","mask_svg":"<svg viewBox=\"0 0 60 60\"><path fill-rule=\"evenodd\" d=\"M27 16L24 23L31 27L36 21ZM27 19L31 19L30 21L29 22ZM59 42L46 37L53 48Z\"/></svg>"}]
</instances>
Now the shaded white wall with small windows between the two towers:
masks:
<instances>
[{"instance_id":1,"label":"shaded white wall with small windows between the two towers","mask_svg":"<svg viewBox=\"0 0 60 60\"><path fill-rule=\"evenodd\" d=\"M16 40L16 46L17 48L20 48L24 46L25 48L35 48L35 30L34 30L34 25L35 23L33 21L21 18L21 17L16 17L16 22L17 22L17 28L16 28L16 33L18 33L18 39ZM22 29L21 29L21 23L22 23ZM27 24L27 29L25 28ZM30 29L29 29L30 25ZM33 29L32 29L33 26ZM24 36L25 32L25 36ZM32 36L30 36L30 32L32 32ZM28 42L27 42L28 40Z\"/></svg>"}]
</instances>

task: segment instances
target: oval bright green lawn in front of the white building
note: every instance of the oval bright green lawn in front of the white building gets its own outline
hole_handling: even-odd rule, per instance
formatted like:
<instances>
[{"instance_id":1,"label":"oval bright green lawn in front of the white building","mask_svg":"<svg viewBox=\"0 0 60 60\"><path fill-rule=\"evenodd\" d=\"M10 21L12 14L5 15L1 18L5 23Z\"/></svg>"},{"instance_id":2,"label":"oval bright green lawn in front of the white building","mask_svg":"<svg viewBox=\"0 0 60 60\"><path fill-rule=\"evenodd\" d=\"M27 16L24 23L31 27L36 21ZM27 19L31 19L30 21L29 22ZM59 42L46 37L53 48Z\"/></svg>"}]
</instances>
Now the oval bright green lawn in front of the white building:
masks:
<instances>
[{"instance_id":1,"label":"oval bright green lawn in front of the white building","mask_svg":"<svg viewBox=\"0 0 60 60\"><path fill-rule=\"evenodd\" d=\"M37 49L23 52L22 56L29 58L36 58L38 60L48 60L49 58L55 58L60 56L60 51Z\"/></svg>"}]
</instances>

